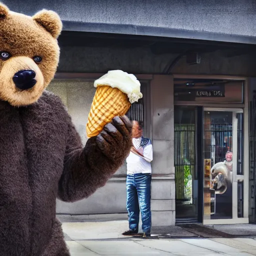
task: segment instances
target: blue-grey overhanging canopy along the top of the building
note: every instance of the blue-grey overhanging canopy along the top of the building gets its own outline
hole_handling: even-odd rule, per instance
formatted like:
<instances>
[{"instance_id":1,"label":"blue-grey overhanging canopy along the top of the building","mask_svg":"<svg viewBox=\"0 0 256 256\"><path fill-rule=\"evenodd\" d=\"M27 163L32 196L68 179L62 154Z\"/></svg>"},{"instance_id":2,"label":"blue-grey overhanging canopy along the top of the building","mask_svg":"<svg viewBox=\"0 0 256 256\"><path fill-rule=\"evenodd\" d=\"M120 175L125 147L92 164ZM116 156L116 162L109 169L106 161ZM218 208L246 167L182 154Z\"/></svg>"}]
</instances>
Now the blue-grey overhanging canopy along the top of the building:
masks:
<instances>
[{"instance_id":1,"label":"blue-grey overhanging canopy along the top of the building","mask_svg":"<svg viewBox=\"0 0 256 256\"><path fill-rule=\"evenodd\" d=\"M255 0L4 0L33 15L52 9L63 30L256 43Z\"/></svg>"}]
</instances>

